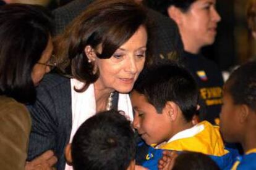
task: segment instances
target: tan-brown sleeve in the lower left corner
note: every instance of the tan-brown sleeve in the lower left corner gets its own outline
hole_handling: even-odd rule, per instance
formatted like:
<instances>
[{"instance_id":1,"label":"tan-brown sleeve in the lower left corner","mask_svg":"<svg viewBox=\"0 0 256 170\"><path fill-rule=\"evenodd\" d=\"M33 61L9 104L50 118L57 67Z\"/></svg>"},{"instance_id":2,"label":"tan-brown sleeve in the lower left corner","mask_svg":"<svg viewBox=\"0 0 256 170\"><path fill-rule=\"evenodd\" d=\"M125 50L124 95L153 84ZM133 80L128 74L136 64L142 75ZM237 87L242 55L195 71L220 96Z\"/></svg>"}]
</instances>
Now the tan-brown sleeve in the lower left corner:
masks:
<instances>
[{"instance_id":1,"label":"tan-brown sleeve in the lower left corner","mask_svg":"<svg viewBox=\"0 0 256 170\"><path fill-rule=\"evenodd\" d=\"M17 102L0 106L1 169L24 169L31 120L27 108Z\"/></svg>"}]
</instances>

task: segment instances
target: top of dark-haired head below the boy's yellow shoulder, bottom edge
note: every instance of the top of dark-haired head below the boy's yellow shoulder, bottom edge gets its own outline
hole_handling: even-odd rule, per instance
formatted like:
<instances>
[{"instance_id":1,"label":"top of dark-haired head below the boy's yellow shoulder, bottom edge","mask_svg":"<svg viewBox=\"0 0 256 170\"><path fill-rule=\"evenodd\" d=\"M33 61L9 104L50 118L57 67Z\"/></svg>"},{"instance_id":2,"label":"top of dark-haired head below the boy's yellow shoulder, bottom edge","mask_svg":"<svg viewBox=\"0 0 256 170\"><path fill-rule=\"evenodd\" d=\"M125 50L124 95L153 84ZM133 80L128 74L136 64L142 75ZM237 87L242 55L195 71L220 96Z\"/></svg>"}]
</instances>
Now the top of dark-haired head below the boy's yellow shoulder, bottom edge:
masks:
<instances>
[{"instance_id":1,"label":"top of dark-haired head below the boy's yellow shoulder, bottom edge","mask_svg":"<svg viewBox=\"0 0 256 170\"><path fill-rule=\"evenodd\" d=\"M218 170L220 169L215 161L203 153L182 152L177 156L173 170Z\"/></svg>"}]
</instances>

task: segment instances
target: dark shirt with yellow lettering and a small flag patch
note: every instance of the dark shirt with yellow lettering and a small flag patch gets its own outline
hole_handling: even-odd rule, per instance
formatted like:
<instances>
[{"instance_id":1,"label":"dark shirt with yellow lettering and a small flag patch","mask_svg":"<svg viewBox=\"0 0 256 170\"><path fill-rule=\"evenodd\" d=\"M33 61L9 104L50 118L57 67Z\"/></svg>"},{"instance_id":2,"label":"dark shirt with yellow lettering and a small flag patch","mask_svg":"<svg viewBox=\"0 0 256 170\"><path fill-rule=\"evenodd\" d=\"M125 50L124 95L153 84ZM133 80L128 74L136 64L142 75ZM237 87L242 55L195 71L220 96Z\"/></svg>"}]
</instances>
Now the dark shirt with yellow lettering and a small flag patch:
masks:
<instances>
[{"instance_id":1,"label":"dark shirt with yellow lettering and a small flag patch","mask_svg":"<svg viewBox=\"0 0 256 170\"><path fill-rule=\"evenodd\" d=\"M185 52L185 64L197 81L200 97L205 104L201 106L200 114L203 119L215 124L215 118L219 118L223 96L223 77L217 65L203 57L201 54ZM203 112L203 113L202 113Z\"/></svg>"}]
</instances>

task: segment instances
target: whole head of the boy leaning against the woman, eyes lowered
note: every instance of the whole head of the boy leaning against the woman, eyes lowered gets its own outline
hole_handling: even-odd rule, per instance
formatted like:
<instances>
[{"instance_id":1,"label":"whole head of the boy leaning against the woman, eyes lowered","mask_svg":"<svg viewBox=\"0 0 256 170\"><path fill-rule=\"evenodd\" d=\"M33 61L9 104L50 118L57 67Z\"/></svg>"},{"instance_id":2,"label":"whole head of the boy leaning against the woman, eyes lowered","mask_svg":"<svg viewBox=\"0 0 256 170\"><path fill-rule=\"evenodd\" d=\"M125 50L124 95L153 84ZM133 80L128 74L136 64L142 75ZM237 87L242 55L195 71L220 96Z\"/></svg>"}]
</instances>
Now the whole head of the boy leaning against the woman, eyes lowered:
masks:
<instances>
[{"instance_id":1,"label":"whole head of the boy leaning against the woman, eyes lowered","mask_svg":"<svg viewBox=\"0 0 256 170\"><path fill-rule=\"evenodd\" d=\"M197 110L197 84L179 65L163 60L146 68L132 91L134 127L148 145L187 129Z\"/></svg>"}]
</instances>

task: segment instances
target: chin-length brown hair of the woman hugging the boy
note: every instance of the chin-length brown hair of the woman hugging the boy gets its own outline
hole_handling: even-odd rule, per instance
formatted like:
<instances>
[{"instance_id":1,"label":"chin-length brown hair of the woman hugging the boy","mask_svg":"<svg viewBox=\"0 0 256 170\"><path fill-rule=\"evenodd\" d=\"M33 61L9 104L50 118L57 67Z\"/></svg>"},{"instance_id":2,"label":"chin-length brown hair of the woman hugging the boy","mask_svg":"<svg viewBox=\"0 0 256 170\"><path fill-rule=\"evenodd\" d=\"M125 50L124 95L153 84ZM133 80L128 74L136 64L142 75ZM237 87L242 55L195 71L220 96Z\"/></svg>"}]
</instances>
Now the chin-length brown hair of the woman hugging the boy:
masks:
<instances>
[{"instance_id":1,"label":"chin-length brown hair of the woman hugging the boy","mask_svg":"<svg viewBox=\"0 0 256 170\"><path fill-rule=\"evenodd\" d=\"M103 51L97 57L109 59L140 25L145 26L149 33L147 12L132 0L92 2L56 39L56 55L59 59L65 59L62 62L62 70L64 68L66 73L71 73L72 77L86 83L85 87L79 90L85 91L99 76L99 70L96 73L93 71L93 62L88 62L84 52L85 46L90 45L96 49L101 44ZM148 59L146 63L147 61Z\"/></svg>"}]
</instances>

